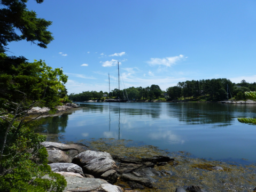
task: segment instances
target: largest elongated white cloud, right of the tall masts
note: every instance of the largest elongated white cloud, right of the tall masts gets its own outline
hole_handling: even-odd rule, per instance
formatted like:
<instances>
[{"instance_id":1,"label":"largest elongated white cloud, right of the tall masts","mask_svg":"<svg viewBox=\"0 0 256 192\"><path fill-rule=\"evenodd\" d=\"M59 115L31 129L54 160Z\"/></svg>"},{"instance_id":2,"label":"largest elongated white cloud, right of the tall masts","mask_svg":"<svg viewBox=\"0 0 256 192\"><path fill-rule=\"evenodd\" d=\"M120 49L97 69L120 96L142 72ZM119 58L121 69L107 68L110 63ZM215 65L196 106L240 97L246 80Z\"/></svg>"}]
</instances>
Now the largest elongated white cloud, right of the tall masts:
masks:
<instances>
[{"instance_id":1,"label":"largest elongated white cloud, right of the tall masts","mask_svg":"<svg viewBox=\"0 0 256 192\"><path fill-rule=\"evenodd\" d=\"M175 57L166 57L166 58L150 58L150 61L146 61L149 63L149 65L164 65L166 67L170 67L172 65L175 65L177 61L181 60L184 58L184 55L179 55ZM185 57L188 58L188 57Z\"/></svg>"}]
</instances>

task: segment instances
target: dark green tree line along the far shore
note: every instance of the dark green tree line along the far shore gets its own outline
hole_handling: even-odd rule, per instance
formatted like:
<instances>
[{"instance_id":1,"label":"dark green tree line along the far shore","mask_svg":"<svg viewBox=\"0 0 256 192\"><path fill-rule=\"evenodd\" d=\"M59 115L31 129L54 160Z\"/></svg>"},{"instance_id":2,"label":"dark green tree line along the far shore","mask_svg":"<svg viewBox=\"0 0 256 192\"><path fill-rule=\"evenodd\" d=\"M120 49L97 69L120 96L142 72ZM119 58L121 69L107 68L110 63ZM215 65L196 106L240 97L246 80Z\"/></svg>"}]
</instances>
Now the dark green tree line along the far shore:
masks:
<instances>
[{"instance_id":1,"label":"dark green tree line along the far shore","mask_svg":"<svg viewBox=\"0 0 256 192\"><path fill-rule=\"evenodd\" d=\"M244 92L256 91L256 83L248 83L242 80L241 83L232 83L227 78L218 79L202 79L199 81L179 82L176 86L168 87L166 91L162 91L159 85L151 85L147 87L129 87L126 90L114 89L110 93L100 91L86 91L79 94L70 94L68 98L72 101L87 101L90 99L100 99L103 94L107 98L120 97L130 100L153 100L165 98L166 100L205 100L205 101L221 101L225 99L245 98Z\"/></svg>"}]
</instances>

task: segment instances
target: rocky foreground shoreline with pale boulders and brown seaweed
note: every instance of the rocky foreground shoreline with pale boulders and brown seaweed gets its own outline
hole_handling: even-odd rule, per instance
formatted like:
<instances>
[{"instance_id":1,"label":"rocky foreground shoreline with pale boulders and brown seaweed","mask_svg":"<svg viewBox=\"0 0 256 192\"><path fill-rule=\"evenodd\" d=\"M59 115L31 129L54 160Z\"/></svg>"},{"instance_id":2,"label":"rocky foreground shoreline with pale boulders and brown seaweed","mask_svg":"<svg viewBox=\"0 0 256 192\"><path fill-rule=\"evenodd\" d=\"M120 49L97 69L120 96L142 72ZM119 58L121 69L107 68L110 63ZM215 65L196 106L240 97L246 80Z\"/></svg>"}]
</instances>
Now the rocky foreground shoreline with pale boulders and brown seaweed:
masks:
<instances>
[{"instance_id":1,"label":"rocky foreground shoreline with pale boulders and brown seaweed","mask_svg":"<svg viewBox=\"0 0 256 192\"><path fill-rule=\"evenodd\" d=\"M230 175L230 173L234 174L231 180L235 180L237 177L241 178L241 175L236 176L236 174L239 174L238 172L241 172L241 167L228 166L221 162L212 162L209 164L204 159L197 159L195 161L195 159L189 159L183 156L173 158L168 155L159 154L151 154L147 157L135 157L135 155L123 156L123 151L120 151L121 153L118 155L110 155L110 153L95 150L83 143L63 144L43 142L42 145L48 150L48 161L52 171L64 175L67 180L67 187L64 191L210 192L256 190L255 182L254 186L243 188L246 190L240 190L241 186L237 186L237 183L224 182L224 180L222 181L223 183L220 183L222 186L210 186L209 188L205 187L205 185L198 185L198 182L193 181L192 178L191 180L187 180L187 183L184 181L181 182L181 178L187 177L188 174L198 174L196 177L202 177L201 179L206 177L205 174L207 174L210 180L215 179L213 175L227 177L226 175ZM121 149L120 147L118 148ZM196 172L188 169L188 166L190 166L188 164L189 161L190 164L192 162L192 169ZM234 167L234 170L232 170L232 167ZM181 177L179 175L180 172ZM225 174L226 172L227 174ZM252 177L253 174L254 176ZM255 170L253 174L248 176L250 179L255 180ZM248 180L247 178L245 179ZM191 183L192 181L195 183ZM242 182L242 180L239 182ZM207 182L205 184L212 185ZM211 188L224 190L211 190Z\"/></svg>"}]
</instances>

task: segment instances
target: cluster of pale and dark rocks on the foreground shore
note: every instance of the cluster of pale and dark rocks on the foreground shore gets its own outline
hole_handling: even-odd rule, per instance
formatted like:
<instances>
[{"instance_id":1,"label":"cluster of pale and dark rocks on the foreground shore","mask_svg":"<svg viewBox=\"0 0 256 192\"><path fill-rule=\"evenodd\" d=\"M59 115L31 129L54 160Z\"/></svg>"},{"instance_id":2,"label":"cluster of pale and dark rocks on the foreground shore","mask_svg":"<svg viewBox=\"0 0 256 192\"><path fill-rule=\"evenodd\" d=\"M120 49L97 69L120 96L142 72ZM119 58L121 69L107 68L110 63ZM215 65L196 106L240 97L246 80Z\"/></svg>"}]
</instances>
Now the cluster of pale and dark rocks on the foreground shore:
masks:
<instances>
[{"instance_id":1,"label":"cluster of pale and dark rocks on the foreground shore","mask_svg":"<svg viewBox=\"0 0 256 192\"><path fill-rule=\"evenodd\" d=\"M48 161L51 170L64 175L67 181L65 191L103 191L123 192L135 189L152 188L156 177L172 175L171 171L154 169L167 163L176 166L174 158L168 156L153 156L151 158L135 158L111 156L106 152L89 150L81 143L63 144L57 142L42 142L48 150ZM220 166L214 170L223 170ZM126 185L112 185L117 181ZM129 186L129 188L127 188ZM124 188L124 189L123 189ZM176 192L206 192L199 186L177 187Z\"/></svg>"}]
</instances>

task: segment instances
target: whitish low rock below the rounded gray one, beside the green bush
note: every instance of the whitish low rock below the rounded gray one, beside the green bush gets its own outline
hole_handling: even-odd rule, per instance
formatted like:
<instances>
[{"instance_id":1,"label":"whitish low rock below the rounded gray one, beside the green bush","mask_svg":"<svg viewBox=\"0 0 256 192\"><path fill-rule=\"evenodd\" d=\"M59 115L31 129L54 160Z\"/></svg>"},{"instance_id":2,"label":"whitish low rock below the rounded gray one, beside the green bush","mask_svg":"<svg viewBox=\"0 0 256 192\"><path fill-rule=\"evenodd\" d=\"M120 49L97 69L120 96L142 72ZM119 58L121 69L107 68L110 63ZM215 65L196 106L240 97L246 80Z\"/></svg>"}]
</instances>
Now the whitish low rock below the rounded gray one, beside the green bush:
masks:
<instances>
[{"instance_id":1,"label":"whitish low rock below the rounded gray one, beside the green bush","mask_svg":"<svg viewBox=\"0 0 256 192\"><path fill-rule=\"evenodd\" d=\"M64 171L83 174L82 168L74 163L52 163L49 165L53 172Z\"/></svg>"}]
</instances>

